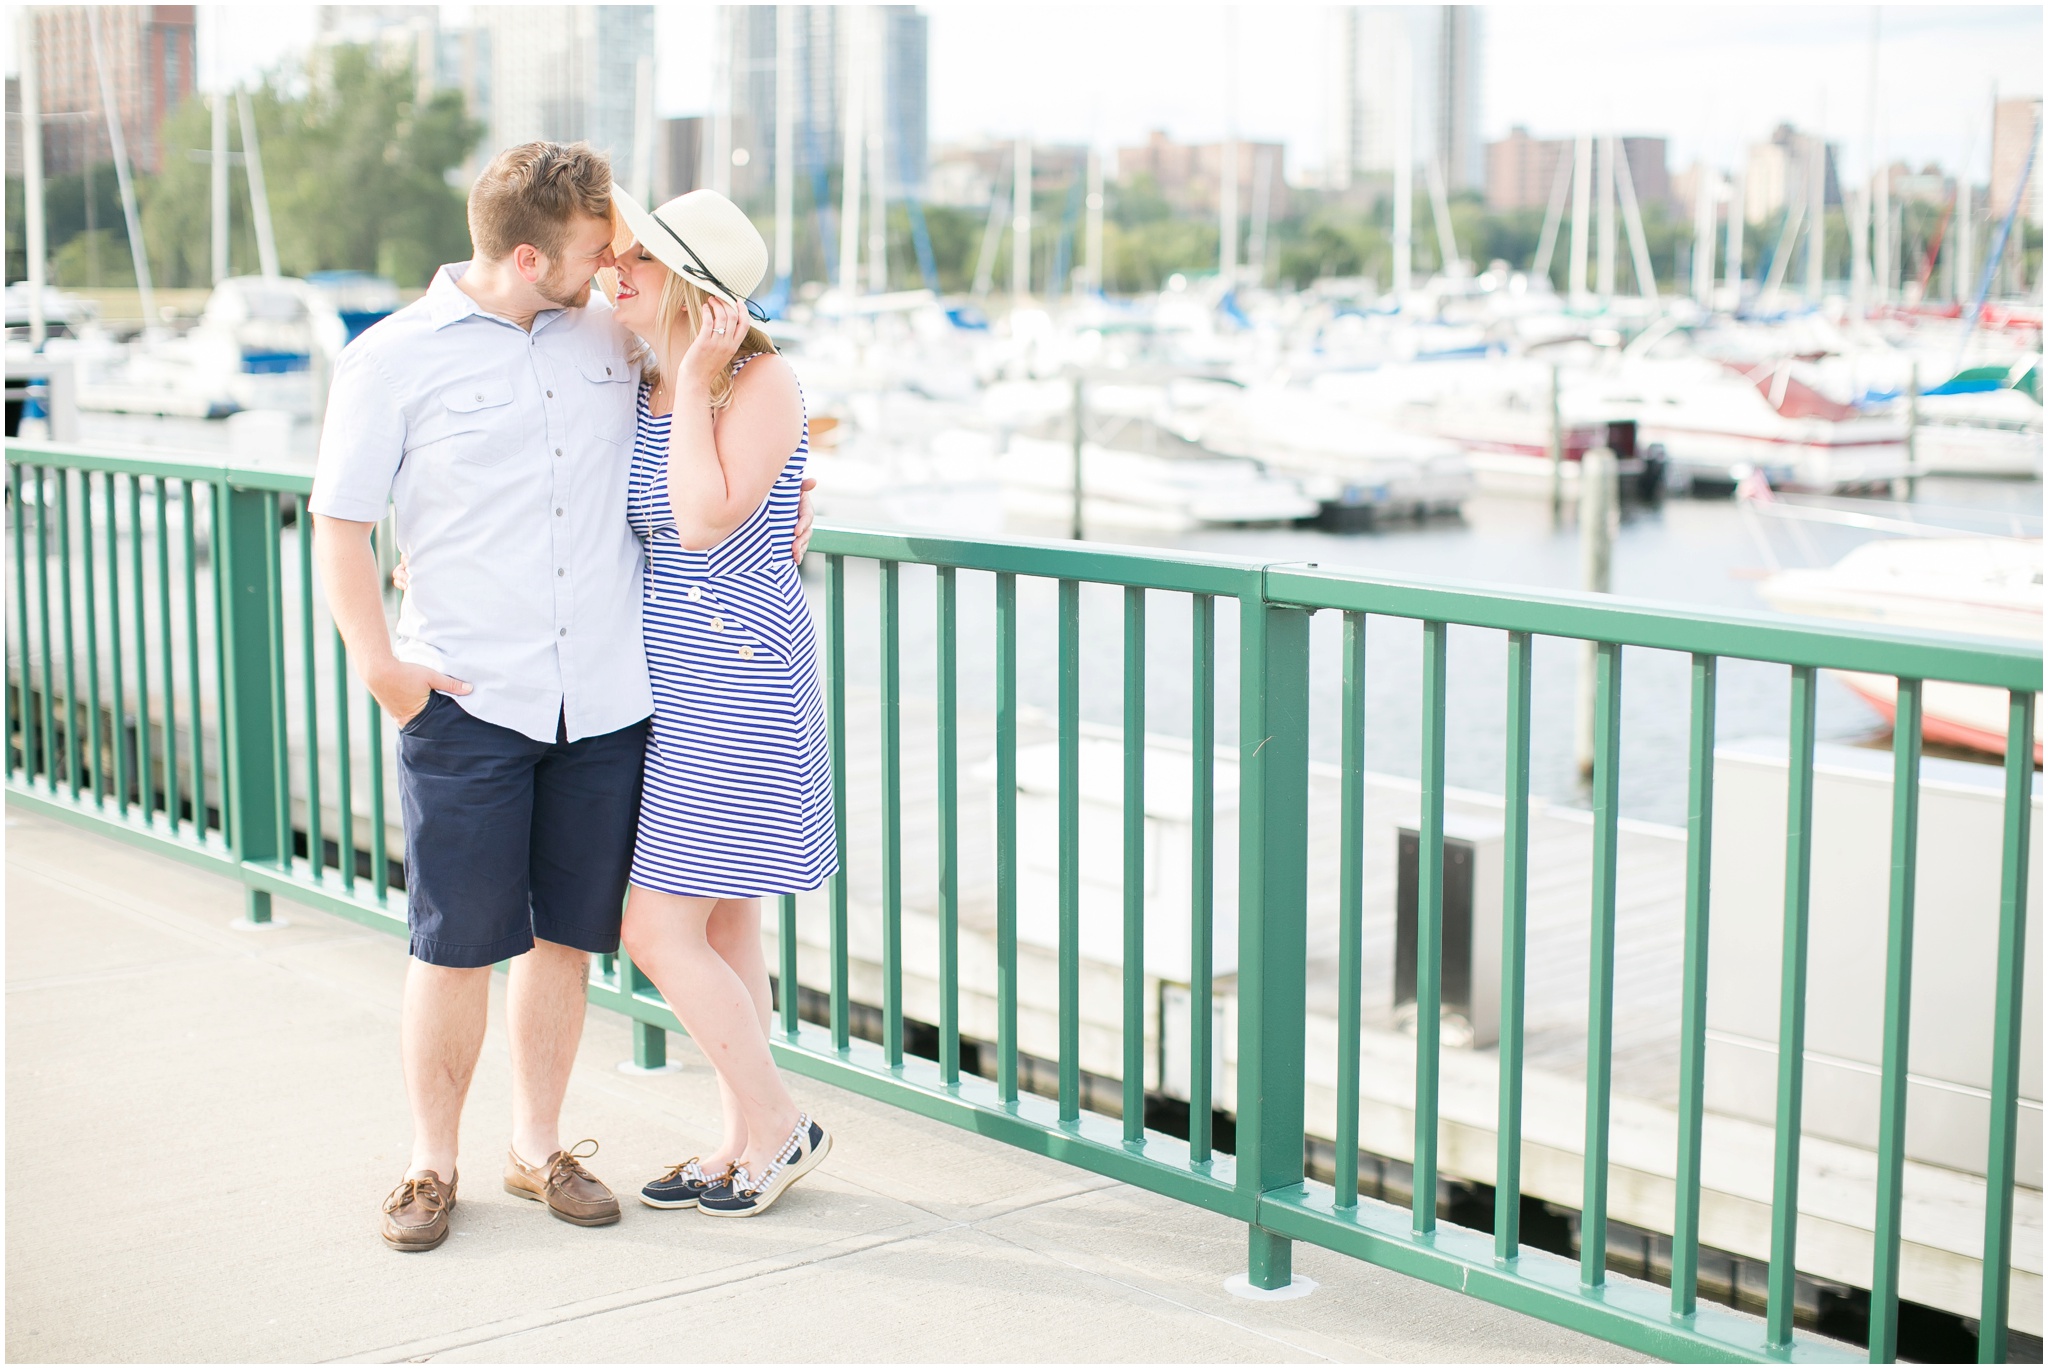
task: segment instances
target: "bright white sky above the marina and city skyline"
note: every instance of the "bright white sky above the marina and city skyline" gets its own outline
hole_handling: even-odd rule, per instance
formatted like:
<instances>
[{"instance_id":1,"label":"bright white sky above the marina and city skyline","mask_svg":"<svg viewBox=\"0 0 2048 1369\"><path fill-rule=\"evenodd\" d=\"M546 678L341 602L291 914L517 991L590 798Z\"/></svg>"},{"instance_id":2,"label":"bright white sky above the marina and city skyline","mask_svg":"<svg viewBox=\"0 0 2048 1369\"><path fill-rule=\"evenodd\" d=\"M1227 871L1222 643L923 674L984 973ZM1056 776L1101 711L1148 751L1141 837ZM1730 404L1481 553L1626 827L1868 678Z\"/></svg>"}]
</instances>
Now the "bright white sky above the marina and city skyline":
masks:
<instances>
[{"instance_id":1,"label":"bright white sky above the marina and city skyline","mask_svg":"<svg viewBox=\"0 0 2048 1369\"><path fill-rule=\"evenodd\" d=\"M469 6L442 6L461 23ZM1149 129L1204 141L1284 141L1288 170L1323 160L1327 14L1317 4L926 4L932 139L1030 133L1137 143ZM1780 121L1872 146L1872 6L1497 4L1483 18L1485 137L1516 123L1661 133L1681 170L1733 166ZM657 10L664 115L711 98L713 6ZM201 80L238 80L313 33L313 8L201 6ZM12 70L12 33L6 66ZM1884 6L1876 23L1876 143L1915 168L1989 166L1993 92L2042 92L2038 4ZM1227 61L1235 57L1235 61Z\"/></svg>"}]
</instances>

